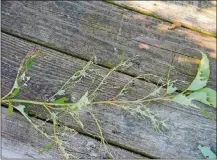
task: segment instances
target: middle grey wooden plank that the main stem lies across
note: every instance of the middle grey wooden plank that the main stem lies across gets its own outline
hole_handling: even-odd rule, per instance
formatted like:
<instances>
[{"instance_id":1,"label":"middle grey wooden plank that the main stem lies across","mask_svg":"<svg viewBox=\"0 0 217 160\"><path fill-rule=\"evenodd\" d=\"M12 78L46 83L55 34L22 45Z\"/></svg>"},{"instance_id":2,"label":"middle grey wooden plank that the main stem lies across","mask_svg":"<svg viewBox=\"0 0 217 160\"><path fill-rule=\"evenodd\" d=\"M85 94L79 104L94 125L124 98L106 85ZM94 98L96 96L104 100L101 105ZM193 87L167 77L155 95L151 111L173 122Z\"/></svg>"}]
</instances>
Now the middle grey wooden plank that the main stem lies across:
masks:
<instances>
[{"instance_id":1,"label":"middle grey wooden plank that the main stem lies across","mask_svg":"<svg viewBox=\"0 0 217 160\"><path fill-rule=\"evenodd\" d=\"M25 54L38 47L36 44L2 34L2 95L5 95L13 85L14 78L21 59ZM53 95L60 86L71 77L72 73L81 68L86 62L55 50L41 47L42 56L37 60L28 76L31 80L20 94L20 98L33 100L46 100ZM98 69L95 87L108 70L94 66ZM101 90L100 99L114 97L117 88L123 86L132 77L115 73L108 79L107 85ZM73 98L80 97L90 87L90 79L83 79L75 88L69 88L66 95ZM132 100L146 96L156 86L145 81L135 81L135 86L123 98ZM112 88L112 89L111 89ZM72 94L71 94L72 93ZM213 146L216 150L216 123L203 117L199 110L185 108L172 102L150 103L149 107L162 120L167 119L168 128L164 134L156 132L148 119L139 119L128 112L112 106L98 105L93 112L99 119L103 134L110 144L115 144L142 155L161 158L203 158L198 150L199 144ZM204 106L205 107L205 106ZM46 119L47 115L40 107L33 106L32 111L37 116ZM210 114L216 115L216 110L208 108ZM98 134L98 129L90 114L80 111L80 118L85 129ZM79 132L83 131L73 119L66 115L61 120Z\"/></svg>"}]
</instances>

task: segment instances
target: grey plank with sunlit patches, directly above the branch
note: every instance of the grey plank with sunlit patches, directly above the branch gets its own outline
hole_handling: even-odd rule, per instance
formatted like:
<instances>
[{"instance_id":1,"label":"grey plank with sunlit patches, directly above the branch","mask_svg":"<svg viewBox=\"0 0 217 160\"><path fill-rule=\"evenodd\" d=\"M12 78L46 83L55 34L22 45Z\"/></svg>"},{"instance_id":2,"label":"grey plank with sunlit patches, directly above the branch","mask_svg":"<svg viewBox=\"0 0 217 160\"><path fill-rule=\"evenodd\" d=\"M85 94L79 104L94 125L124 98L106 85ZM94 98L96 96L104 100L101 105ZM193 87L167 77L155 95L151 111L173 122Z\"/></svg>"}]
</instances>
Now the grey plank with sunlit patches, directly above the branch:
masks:
<instances>
[{"instance_id":1,"label":"grey plank with sunlit patches, directly above the branch","mask_svg":"<svg viewBox=\"0 0 217 160\"><path fill-rule=\"evenodd\" d=\"M126 57L139 55L125 72L133 76L165 76L174 60L171 77L180 80L176 82L180 89L197 73L198 49L205 51L211 60L209 86L216 88L215 38L183 28L168 32L168 23L99 1L7 1L2 5L3 31L82 59L97 56L98 63L106 67L118 63L123 51ZM147 77L153 83L158 79Z\"/></svg>"}]
</instances>

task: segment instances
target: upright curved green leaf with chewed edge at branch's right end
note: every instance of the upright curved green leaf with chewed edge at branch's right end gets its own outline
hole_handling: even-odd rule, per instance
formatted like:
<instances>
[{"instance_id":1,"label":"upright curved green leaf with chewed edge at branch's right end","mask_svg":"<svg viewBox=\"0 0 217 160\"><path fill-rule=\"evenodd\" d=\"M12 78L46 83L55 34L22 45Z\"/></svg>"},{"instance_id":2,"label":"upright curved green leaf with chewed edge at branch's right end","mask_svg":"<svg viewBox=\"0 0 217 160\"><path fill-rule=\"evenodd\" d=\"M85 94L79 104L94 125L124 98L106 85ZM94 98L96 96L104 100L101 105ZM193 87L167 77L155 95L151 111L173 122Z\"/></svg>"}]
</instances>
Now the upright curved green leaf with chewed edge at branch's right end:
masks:
<instances>
[{"instance_id":1,"label":"upright curved green leaf with chewed edge at branch's right end","mask_svg":"<svg viewBox=\"0 0 217 160\"><path fill-rule=\"evenodd\" d=\"M187 90L196 91L206 86L208 82L210 75L209 59L207 58L207 55L205 53L201 52L201 54L202 59L200 61L197 75Z\"/></svg>"}]
</instances>

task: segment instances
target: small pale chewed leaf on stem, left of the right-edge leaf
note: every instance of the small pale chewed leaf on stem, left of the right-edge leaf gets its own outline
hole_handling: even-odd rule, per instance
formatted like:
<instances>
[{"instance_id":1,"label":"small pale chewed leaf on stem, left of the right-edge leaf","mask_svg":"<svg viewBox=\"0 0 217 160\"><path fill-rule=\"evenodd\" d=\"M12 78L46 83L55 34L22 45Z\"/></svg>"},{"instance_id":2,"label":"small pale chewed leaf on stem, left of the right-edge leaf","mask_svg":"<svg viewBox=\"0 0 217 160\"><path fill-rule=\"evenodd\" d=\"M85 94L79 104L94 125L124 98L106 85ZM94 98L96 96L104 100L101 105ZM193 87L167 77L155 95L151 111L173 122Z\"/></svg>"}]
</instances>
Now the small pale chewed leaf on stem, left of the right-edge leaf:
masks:
<instances>
[{"instance_id":1,"label":"small pale chewed leaf on stem, left of the right-edge leaf","mask_svg":"<svg viewBox=\"0 0 217 160\"><path fill-rule=\"evenodd\" d=\"M176 95L174 98L172 98L172 101L179 103L181 105L192 106L192 107L198 108L195 104L192 103L191 98L188 98L183 94Z\"/></svg>"}]
</instances>

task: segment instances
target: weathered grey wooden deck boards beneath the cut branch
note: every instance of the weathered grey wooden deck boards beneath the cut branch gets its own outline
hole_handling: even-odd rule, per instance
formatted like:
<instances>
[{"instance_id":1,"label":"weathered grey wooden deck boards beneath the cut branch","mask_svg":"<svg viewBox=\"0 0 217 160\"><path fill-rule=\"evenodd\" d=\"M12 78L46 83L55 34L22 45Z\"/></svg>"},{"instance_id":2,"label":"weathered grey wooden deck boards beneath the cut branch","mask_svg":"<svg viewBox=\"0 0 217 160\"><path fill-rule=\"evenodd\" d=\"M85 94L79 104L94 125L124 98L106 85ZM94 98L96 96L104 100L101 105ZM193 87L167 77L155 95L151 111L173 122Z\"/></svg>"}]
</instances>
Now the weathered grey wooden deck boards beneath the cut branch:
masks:
<instances>
[{"instance_id":1,"label":"weathered grey wooden deck boards beneath the cut branch","mask_svg":"<svg viewBox=\"0 0 217 160\"><path fill-rule=\"evenodd\" d=\"M197 73L199 50L209 56L208 86L216 89L216 3L201 3L193 3L195 7L186 5L187 2L3 1L1 94L9 92L19 63L35 47L40 47L43 56L29 73L28 88L21 93L21 97L29 99L44 100L52 95L93 56L97 57L95 67L100 73L93 84L96 86L108 69L118 63L117 58L123 51L126 57L139 55L140 60L133 61L133 66L124 73L112 75L108 88L101 93L102 99L114 96L115 87L141 73L164 76L172 61L175 63L171 78L180 80L175 85L183 90ZM175 12L174 7L179 12ZM176 21L182 27L168 30L170 22ZM138 80L126 98L145 96L157 83L158 79L153 76L147 77L147 81ZM79 97L89 84L88 80L83 81L73 90L73 96ZM111 86L114 91L109 89ZM95 110L116 159L204 158L198 145L211 147L216 153L215 121L205 118L195 108L173 102L155 102L150 106L161 119L168 119L164 135L156 132L148 120L137 119L120 108L99 105ZM216 115L215 109L207 110ZM33 107L32 111L36 109ZM46 119L45 114L38 114L40 110L35 113L40 118L35 118L36 121ZM86 131L97 135L98 129L90 115L85 111L81 115ZM70 153L85 159L108 158L100 150L100 141L89 137L73 119L66 116L62 122L78 131L76 136L67 134L70 143L66 148ZM55 149L38 155L46 143L20 114L8 116L6 106L2 106L4 158L59 159Z\"/></svg>"}]
</instances>

